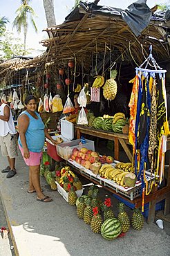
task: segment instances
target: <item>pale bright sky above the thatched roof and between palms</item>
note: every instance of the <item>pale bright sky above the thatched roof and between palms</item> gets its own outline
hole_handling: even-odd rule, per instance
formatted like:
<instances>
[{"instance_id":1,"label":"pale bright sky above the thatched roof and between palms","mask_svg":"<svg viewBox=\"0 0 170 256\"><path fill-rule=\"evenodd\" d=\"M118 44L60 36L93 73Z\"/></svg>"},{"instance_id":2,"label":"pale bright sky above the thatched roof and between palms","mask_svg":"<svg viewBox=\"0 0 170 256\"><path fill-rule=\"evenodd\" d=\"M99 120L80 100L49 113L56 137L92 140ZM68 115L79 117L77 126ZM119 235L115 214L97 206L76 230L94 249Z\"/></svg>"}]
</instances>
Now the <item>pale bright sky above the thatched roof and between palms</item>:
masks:
<instances>
[{"instance_id":1,"label":"pale bright sky above the thatched roof and between palms","mask_svg":"<svg viewBox=\"0 0 170 256\"><path fill-rule=\"evenodd\" d=\"M17 8L19 8L21 1L20 0L0 0L1 1L1 8L0 8L0 17L6 16L10 20L10 24L8 25L8 30L12 30L12 21L14 21L16 14L15 11ZM89 0L90 1L90 0ZM164 3L166 0L147 0L147 5L151 8L155 6L156 3ZM55 2L55 19L56 24L62 24L64 21L64 18L68 13L70 12L71 8L74 6L75 0L54 0ZM92 2L92 1L91 1ZM112 6L115 8L122 8L125 9L127 6L129 6L131 3L133 3L134 0L100 0L98 3L102 6ZM27 39L27 45L29 48L35 48L35 49L44 49L41 44L39 44L39 41L41 39L47 38L47 33L42 32L44 28L47 27L46 24L46 17L44 12L44 6L43 6L43 0L32 0L30 1L30 6L35 10L38 17L35 18L35 23L38 28L38 33L36 34L30 25L28 27L28 39ZM13 30L13 33L15 33L15 36L17 35L16 31ZM21 37L21 35L17 35L18 37Z\"/></svg>"}]
</instances>

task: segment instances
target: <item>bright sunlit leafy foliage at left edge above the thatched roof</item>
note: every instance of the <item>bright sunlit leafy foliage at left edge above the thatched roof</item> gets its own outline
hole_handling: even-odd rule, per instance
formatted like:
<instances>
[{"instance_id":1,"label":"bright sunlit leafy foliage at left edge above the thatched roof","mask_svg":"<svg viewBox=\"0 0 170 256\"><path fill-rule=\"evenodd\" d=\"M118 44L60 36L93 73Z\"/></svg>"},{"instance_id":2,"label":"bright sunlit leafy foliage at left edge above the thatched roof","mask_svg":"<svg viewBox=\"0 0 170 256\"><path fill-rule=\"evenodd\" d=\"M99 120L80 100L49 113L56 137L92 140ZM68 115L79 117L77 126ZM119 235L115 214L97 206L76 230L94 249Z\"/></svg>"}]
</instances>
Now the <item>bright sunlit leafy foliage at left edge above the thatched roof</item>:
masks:
<instances>
[{"instance_id":1,"label":"bright sunlit leafy foliage at left edge above the thatched roof","mask_svg":"<svg viewBox=\"0 0 170 256\"><path fill-rule=\"evenodd\" d=\"M14 37L13 33L7 30L0 41L1 60L10 60L12 57L23 55L23 48L21 39ZM30 50L28 49L26 54L29 54Z\"/></svg>"}]
</instances>

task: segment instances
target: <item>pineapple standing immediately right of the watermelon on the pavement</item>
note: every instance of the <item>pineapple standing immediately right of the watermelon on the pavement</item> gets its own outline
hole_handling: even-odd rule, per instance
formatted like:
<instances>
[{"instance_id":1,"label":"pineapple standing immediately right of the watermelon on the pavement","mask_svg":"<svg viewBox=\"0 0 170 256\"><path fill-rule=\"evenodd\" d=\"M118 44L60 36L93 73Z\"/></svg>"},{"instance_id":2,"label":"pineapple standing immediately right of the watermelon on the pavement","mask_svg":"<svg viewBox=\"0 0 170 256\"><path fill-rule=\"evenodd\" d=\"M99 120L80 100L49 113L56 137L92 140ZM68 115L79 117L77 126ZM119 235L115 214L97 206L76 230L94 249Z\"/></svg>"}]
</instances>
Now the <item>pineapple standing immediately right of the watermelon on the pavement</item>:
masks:
<instances>
[{"instance_id":1,"label":"pineapple standing immediately right of the watermelon on the pavement","mask_svg":"<svg viewBox=\"0 0 170 256\"><path fill-rule=\"evenodd\" d=\"M122 232L126 233L129 231L130 228L130 220L128 214L124 211L124 203L120 203L118 205L119 214L117 219L119 219L120 223L122 224Z\"/></svg>"}]
</instances>

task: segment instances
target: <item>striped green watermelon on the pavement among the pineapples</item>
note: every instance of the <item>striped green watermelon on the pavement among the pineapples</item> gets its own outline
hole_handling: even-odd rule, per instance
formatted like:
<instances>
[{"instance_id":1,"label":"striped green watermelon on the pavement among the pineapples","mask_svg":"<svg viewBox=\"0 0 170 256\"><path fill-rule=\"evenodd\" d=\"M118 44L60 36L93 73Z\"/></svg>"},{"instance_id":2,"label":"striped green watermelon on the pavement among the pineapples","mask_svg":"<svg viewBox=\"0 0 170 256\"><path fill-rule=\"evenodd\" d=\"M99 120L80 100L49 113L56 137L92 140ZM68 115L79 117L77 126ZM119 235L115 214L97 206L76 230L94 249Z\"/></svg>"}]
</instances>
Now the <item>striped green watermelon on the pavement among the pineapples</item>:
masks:
<instances>
[{"instance_id":1,"label":"striped green watermelon on the pavement among the pineapples","mask_svg":"<svg viewBox=\"0 0 170 256\"><path fill-rule=\"evenodd\" d=\"M106 221L102 223L101 235L105 239L108 239L108 240L116 239L121 232L122 232L121 223L116 218L106 219Z\"/></svg>"}]
</instances>

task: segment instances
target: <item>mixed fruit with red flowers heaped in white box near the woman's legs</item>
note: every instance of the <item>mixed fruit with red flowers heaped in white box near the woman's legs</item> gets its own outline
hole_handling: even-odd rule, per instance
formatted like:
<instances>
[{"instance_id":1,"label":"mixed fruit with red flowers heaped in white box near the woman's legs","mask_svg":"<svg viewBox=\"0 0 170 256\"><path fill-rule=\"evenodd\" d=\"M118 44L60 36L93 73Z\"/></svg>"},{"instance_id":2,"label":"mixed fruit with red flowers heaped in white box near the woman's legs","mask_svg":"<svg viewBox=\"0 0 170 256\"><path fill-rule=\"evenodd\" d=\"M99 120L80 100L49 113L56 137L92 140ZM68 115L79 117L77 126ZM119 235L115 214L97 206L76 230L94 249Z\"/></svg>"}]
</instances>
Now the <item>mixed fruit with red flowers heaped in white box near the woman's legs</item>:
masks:
<instances>
[{"instance_id":1,"label":"mixed fruit with red flowers heaped in white box near the woman's legs","mask_svg":"<svg viewBox=\"0 0 170 256\"><path fill-rule=\"evenodd\" d=\"M79 181L79 178L70 170L70 166L65 166L59 168L59 170L55 171L56 177L55 181L59 183L59 185L64 188L66 192L70 190L82 190L82 182Z\"/></svg>"}]
</instances>

